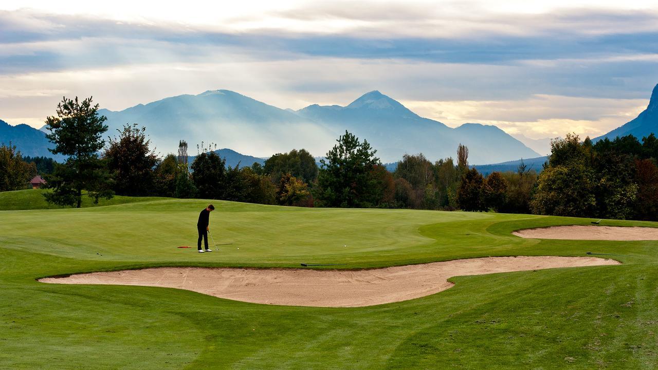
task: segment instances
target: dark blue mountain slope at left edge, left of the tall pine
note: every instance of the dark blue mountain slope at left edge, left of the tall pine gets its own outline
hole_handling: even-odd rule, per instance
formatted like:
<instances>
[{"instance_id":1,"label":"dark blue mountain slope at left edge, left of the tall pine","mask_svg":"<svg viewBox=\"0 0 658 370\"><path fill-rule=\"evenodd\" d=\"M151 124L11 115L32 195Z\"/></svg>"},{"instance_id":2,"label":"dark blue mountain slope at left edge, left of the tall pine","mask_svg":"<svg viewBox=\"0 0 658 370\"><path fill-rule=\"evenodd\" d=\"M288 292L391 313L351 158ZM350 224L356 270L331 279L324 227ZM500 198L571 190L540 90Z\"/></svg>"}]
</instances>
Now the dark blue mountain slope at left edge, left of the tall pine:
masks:
<instances>
[{"instance_id":1,"label":"dark blue mountain slope at left edge, left of the tall pine","mask_svg":"<svg viewBox=\"0 0 658 370\"><path fill-rule=\"evenodd\" d=\"M63 155L53 155L48 148L53 145L45 138L45 134L27 124L11 126L0 120L0 144L16 145L22 155L30 157L51 157L57 161L64 159Z\"/></svg>"}]
</instances>

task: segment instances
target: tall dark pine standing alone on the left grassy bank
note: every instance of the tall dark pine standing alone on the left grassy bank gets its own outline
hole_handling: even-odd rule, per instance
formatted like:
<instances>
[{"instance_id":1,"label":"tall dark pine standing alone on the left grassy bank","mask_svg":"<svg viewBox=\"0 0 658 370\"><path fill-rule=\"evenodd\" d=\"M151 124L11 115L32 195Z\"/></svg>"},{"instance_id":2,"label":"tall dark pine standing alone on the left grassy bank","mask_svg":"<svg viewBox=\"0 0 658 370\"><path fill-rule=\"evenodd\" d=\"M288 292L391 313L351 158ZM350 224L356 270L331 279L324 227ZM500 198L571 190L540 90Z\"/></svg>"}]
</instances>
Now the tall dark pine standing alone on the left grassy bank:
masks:
<instances>
[{"instance_id":1,"label":"tall dark pine standing alone on the left grassy bank","mask_svg":"<svg viewBox=\"0 0 658 370\"><path fill-rule=\"evenodd\" d=\"M47 201L80 208L83 189L95 202L114 195L107 165L98 157L98 151L105 145L101 136L107 131L103 124L106 118L98 115L98 107L98 104L91 105L91 97L82 102L78 97L64 97L57 105L57 117L45 120L51 132L46 137L55 144L55 148L49 150L68 156L62 165L55 166L47 179L53 188L53 192L44 194Z\"/></svg>"}]
</instances>

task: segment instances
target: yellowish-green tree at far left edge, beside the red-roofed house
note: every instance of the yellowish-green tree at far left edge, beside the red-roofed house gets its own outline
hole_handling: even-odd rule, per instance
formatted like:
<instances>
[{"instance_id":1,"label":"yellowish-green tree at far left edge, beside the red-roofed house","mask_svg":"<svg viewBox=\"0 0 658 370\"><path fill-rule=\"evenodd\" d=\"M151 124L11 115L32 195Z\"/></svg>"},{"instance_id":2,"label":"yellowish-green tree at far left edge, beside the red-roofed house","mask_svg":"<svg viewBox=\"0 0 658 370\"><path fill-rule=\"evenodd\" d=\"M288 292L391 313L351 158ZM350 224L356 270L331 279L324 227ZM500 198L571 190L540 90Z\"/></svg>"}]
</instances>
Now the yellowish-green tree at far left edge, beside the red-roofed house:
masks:
<instances>
[{"instance_id":1,"label":"yellowish-green tree at far left edge, beside the red-roofed house","mask_svg":"<svg viewBox=\"0 0 658 370\"><path fill-rule=\"evenodd\" d=\"M0 192L25 189L36 174L34 163L23 161L16 146L0 145Z\"/></svg>"}]
</instances>

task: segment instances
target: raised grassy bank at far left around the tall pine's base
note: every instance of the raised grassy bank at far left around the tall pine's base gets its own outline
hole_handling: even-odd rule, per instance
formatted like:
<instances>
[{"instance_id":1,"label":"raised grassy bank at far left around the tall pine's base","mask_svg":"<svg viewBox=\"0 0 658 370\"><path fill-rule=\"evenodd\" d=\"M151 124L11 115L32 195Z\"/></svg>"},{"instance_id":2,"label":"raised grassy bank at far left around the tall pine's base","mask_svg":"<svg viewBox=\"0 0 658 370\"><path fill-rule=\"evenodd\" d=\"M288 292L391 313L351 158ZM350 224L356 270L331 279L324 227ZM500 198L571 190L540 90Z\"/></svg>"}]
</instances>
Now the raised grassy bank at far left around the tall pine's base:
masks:
<instances>
[{"instance_id":1,"label":"raised grassy bank at far left around the tall pine's base","mask_svg":"<svg viewBox=\"0 0 658 370\"><path fill-rule=\"evenodd\" d=\"M20 209L63 209L72 208L48 203L43 198L47 189L28 189L15 190L13 192L0 192L0 211L15 211ZM93 198L89 198L83 193L82 207L99 207L103 205L116 205L123 203L136 203L139 201L152 201L169 198L160 197L125 197L114 196L111 199L98 199L98 203L93 203Z\"/></svg>"}]
</instances>

